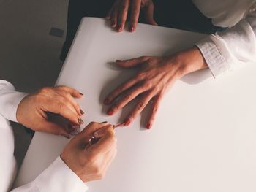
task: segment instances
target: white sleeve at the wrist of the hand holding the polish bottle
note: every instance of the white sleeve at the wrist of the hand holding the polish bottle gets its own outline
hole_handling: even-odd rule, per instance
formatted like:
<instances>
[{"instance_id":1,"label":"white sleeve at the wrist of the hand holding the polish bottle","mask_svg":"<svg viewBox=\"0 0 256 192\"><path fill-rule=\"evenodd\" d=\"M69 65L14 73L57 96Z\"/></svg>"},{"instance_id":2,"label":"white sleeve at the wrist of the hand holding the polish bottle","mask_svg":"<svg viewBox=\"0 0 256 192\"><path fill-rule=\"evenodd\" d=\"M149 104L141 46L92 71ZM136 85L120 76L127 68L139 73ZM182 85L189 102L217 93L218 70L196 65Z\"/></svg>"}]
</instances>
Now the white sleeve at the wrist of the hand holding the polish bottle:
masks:
<instances>
[{"instance_id":1,"label":"white sleeve at the wrist of the hand holding the polish bottle","mask_svg":"<svg viewBox=\"0 0 256 192\"><path fill-rule=\"evenodd\" d=\"M0 114L7 120L18 122L16 111L20 101L26 96L26 93L15 91L10 82L0 80Z\"/></svg>"}]
</instances>

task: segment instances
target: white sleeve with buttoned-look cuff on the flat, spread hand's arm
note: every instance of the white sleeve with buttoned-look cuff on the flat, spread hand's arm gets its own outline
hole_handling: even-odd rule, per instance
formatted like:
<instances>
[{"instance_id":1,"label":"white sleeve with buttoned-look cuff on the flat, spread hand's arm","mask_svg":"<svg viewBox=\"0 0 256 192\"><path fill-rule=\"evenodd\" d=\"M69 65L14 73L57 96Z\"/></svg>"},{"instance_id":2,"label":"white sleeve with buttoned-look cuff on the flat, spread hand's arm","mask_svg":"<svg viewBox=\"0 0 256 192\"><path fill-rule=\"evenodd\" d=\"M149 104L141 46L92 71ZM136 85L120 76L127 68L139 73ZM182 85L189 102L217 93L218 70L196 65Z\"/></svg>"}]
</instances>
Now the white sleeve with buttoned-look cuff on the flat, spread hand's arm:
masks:
<instances>
[{"instance_id":1,"label":"white sleeve with buttoned-look cuff on the flat, spread hand's arm","mask_svg":"<svg viewBox=\"0 0 256 192\"><path fill-rule=\"evenodd\" d=\"M241 20L236 26L212 34L197 47L214 77L247 63L256 63L256 16Z\"/></svg>"}]
</instances>

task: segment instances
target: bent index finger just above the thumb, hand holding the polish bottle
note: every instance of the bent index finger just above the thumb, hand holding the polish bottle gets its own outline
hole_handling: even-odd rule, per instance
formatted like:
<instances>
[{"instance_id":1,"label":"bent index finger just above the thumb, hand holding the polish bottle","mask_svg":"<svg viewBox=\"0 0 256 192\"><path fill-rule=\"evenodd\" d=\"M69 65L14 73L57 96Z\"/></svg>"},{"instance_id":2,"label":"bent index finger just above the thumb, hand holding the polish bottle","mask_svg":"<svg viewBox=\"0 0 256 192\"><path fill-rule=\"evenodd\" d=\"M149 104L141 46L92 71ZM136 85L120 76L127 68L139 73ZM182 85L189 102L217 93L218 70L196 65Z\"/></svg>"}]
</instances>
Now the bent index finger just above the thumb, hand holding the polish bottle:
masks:
<instances>
[{"instance_id":1,"label":"bent index finger just above the thumb, hand holding the polish bottle","mask_svg":"<svg viewBox=\"0 0 256 192\"><path fill-rule=\"evenodd\" d=\"M64 99L64 97L62 96L59 96L59 98L55 100L46 100L44 106L42 107L42 110L45 112L53 112L59 114L64 118L67 118L72 123L78 125L83 123L83 120L81 121L78 113L76 112L72 104L67 101L67 99Z\"/></svg>"}]
</instances>

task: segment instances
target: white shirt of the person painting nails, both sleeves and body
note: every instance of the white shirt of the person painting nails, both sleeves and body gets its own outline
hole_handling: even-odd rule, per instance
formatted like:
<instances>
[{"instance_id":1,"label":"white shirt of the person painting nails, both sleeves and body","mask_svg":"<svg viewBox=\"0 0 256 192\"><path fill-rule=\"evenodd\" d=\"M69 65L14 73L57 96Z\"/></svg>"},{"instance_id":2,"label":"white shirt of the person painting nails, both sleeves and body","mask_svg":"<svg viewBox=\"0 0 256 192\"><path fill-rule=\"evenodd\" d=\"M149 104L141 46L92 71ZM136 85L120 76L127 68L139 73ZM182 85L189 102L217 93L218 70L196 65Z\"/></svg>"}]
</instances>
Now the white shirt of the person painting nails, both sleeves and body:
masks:
<instances>
[{"instance_id":1,"label":"white shirt of the person painting nails, both sleeves and body","mask_svg":"<svg viewBox=\"0 0 256 192\"><path fill-rule=\"evenodd\" d=\"M7 158L0 159L0 178L1 176L4 177L4 179L1 179L1 182L4 183L1 183L0 191L9 188L16 170L15 159L13 157L14 139L12 128L4 118L17 122L17 107L24 96L26 96L26 93L16 92L10 82L0 80L0 134L4 137L1 138L1 144L3 146L0 147L0 152L1 154L5 154L1 158ZM7 134L5 134L6 132ZM84 192L86 190L87 186L85 183L58 157L34 181L15 188L12 192Z\"/></svg>"}]
</instances>

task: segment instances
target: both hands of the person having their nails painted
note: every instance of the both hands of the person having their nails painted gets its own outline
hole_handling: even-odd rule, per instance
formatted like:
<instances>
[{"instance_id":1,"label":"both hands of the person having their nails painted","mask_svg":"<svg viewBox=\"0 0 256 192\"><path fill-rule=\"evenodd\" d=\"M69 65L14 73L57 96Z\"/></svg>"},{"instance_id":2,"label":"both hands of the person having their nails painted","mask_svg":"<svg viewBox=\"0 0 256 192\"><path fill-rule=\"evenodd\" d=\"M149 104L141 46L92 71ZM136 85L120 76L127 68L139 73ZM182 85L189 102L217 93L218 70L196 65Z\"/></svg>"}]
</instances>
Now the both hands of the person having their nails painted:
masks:
<instances>
[{"instance_id":1,"label":"both hands of the person having their nails painted","mask_svg":"<svg viewBox=\"0 0 256 192\"><path fill-rule=\"evenodd\" d=\"M157 25L154 20L154 2L143 0L116 0L110 12L106 16L110 20L110 26L116 31L124 30L127 21L127 13L130 10L129 31L135 31L140 12L146 19L146 23ZM124 108L129 101L139 97L137 106L129 113L123 125L128 126L140 115L146 105L152 101L151 111L146 123L146 128L151 128L165 93L174 83L186 74L208 68L203 55L197 47L191 47L173 55L164 57L143 56L125 61L116 61L116 65L129 68L139 67L140 70L123 85L112 91L104 101L111 105L108 115L113 115ZM124 95L124 97L121 97ZM118 101L116 101L118 99ZM120 99L121 98L121 99Z\"/></svg>"}]
</instances>

